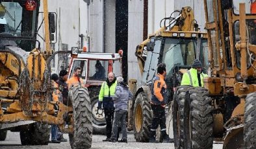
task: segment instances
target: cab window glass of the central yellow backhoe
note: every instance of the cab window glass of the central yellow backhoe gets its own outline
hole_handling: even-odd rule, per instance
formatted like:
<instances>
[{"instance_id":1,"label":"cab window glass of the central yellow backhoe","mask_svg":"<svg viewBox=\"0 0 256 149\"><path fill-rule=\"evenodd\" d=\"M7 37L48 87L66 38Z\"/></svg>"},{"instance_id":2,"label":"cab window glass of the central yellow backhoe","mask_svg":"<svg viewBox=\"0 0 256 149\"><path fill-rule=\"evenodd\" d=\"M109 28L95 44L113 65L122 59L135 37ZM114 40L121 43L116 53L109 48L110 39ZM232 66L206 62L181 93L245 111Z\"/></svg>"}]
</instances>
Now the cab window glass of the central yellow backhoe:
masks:
<instances>
[{"instance_id":1,"label":"cab window glass of the central yellow backhoe","mask_svg":"<svg viewBox=\"0 0 256 149\"><path fill-rule=\"evenodd\" d=\"M190 67L196 59L197 43L197 39L166 38L162 56L162 63L166 63L166 72L169 72L174 65ZM204 67L207 66L207 40L201 41L199 54L199 60Z\"/></svg>"}]
</instances>

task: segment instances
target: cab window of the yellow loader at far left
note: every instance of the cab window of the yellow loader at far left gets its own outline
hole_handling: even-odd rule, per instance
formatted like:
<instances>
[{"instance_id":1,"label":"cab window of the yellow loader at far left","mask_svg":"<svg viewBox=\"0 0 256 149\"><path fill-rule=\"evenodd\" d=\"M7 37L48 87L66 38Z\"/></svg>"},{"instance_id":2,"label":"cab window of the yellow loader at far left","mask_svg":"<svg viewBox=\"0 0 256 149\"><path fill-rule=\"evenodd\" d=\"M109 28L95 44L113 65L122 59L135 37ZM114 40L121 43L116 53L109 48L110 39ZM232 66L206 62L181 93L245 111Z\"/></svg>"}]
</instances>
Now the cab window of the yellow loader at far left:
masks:
<instances>
[{"instance_id":1,"label":"cab window of the yellow loader at far left","mask_svg":"<svg viewBox=\"0 0 256 149\"><path fill-rule=\"evenodd\" d=\"M0 36L34 37L36 9L26 10L25 2L0 3Z\"/></svg>"}]
</instances>

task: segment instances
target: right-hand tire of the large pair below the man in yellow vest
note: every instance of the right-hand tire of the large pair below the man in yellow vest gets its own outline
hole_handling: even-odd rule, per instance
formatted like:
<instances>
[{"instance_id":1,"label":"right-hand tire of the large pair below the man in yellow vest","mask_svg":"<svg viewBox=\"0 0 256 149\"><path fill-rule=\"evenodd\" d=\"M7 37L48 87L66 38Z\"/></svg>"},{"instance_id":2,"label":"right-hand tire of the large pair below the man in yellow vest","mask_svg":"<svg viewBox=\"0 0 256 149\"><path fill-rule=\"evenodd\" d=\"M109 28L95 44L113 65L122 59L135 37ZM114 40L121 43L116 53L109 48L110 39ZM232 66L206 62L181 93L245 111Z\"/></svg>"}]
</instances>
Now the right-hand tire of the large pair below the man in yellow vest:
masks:
<instances>
[{"instance_id":1,"label":"right-hand tire of the large pair below the man in yellow vest","mask_svg":"<svg viewBox=\"0 0 256 149\"><path fill-rule=\"evenodd\" d=\"M213 115L209 92L203 87L191 87L184 105L185 148L212 148Z\"/></svg>"}]
</instances>

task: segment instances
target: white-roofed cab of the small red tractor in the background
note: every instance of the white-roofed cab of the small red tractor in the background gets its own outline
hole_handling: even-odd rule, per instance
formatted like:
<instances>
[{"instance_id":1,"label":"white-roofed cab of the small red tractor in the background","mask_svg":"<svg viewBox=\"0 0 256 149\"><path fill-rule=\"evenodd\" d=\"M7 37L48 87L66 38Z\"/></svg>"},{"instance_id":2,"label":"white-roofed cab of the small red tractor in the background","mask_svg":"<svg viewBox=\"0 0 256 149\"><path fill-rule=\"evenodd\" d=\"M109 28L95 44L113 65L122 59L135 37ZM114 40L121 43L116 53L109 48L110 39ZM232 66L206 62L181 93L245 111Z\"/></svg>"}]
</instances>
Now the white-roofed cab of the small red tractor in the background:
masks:
<instances>
[{"instance_id":1,"label":"white-roofed cab of the small red tractor in the background","mask_svg":"<svg viewBox=\"0 0 256 149\"><path fill-rule=\"evenodd\" d=\"M116 77L122 76L122 54L81 51L71 55L68 78L73 76L75 67L81 67L81 77L86 87L101 86L110 72Z\"/></svg>"}]
</instances>

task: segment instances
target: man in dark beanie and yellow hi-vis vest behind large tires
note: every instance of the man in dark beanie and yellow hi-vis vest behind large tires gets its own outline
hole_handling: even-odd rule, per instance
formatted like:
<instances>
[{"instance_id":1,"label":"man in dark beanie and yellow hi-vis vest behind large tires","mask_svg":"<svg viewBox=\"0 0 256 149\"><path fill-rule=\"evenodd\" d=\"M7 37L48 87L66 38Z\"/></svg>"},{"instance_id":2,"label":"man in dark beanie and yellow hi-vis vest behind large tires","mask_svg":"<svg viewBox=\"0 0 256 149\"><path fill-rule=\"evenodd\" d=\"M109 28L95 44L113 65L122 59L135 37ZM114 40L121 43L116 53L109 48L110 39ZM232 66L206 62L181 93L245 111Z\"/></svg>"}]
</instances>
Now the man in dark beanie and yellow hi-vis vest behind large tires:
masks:
<instances>
[{"instance_id":1,"label":"man in dark beanie and yellow hi-vis vest behind large tires","mask_svg":"<svg viewBox=\"0 0 256 149\"><path fill-rule=\"evenodd\" d=\"M192 68L183 74L181 86L203 87L203 78L208 75L202 72L202 63L199 60L194 60Z\"/></svg>"}]
</instances>

